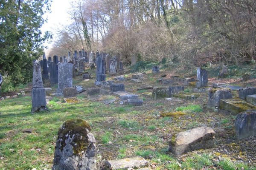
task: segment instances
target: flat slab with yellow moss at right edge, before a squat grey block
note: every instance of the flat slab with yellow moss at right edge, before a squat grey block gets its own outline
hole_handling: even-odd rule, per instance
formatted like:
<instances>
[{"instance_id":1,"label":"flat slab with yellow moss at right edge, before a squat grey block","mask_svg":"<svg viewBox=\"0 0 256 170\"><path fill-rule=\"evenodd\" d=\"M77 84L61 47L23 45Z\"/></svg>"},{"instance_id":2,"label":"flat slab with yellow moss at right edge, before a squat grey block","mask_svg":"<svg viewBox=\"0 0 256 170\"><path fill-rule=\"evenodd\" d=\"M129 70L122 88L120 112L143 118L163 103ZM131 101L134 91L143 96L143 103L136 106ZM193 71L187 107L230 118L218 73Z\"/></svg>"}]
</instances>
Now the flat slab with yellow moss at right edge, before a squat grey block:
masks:
<instances>
[{"instance_id":1,"label":"flat slab with yellow moss at right edge, before a squat grey block","mask_svg":"<svg viewBox=\"0 0 256 170\"><path fill-rule=\"evenodd\" d=\"M232 113L240 113L243 111L256 109L256 106L251 105L250 103L245 102L242 99L221 99L220 108Z\"/></svg>"}]
</instances>

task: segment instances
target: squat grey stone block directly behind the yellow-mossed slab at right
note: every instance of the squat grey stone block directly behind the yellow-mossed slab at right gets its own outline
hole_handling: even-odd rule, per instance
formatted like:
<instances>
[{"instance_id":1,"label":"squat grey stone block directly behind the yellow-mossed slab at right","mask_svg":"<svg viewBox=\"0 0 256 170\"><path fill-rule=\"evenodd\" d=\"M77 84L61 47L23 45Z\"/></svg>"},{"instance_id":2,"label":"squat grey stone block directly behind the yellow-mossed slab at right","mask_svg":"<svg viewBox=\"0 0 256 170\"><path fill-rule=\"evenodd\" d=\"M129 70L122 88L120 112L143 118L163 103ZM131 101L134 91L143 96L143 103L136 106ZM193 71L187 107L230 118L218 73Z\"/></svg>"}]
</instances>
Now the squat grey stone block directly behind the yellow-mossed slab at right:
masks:
<instances>
[{"instance_id":1,"label":"squat grey stone block directly behind the yellow-mossed slab at right","mask_svg":"<svg viewBox=\"0 0 256 170\"><path fill-rule=\"evenodd\" d=\"M208 105L212 107L220 106L221 99L232 99L230 89L211 89L208 94Z\"/></svg>"}]
</instances>

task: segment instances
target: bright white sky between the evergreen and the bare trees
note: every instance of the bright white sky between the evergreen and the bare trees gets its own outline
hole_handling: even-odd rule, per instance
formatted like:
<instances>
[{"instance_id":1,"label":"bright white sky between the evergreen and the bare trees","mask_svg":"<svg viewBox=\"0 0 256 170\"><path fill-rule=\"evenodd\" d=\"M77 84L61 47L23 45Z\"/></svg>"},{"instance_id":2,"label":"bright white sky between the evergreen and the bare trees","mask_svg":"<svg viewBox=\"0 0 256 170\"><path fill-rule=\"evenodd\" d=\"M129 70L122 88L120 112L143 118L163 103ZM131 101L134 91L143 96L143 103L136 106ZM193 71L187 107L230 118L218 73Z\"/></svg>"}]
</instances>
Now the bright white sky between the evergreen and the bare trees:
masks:
<instances>
[{"instance_id":1,"label":"bright white sky between the evergreen and the bare trees","mask_svg":"<svg viewBox=\"0 0 256 170\"><path fill-rule=\"evenodd\" d=\"M41 31L50 31L52 32L52 41L56 39L56 29L60 28L61 26L66 26L71 23L70 16L68 14L72 2L75 0L52 0L51 12L44 14L44 19L47 19L47 23L41 27ZM48 46L49 48L52 47L52 43L45 42L44 45ZM45 49L45 52L48 51Z\"/></svg>"}]
</instances>

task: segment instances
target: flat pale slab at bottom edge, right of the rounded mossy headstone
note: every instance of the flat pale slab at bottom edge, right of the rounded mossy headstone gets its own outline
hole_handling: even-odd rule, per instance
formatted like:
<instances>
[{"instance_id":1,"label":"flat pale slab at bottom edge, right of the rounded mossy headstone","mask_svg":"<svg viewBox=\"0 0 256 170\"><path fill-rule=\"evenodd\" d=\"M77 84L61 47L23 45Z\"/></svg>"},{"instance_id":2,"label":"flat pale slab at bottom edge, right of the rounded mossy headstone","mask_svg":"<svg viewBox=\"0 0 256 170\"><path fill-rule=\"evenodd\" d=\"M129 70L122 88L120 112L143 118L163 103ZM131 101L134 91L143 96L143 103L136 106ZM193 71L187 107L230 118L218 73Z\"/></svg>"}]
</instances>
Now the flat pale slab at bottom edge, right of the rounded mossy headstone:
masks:
<instances>
[{"instance_id":1,"label":"flat pale slab at bottom edge, right of the rounded mossy headstone","mask_svg":"<svg viewBox=\"0 0 256 170\"><path fill-rule=\"evenodd\" d=\"M144 167L148 164L142 157L115 159L105 162L105 170L119 170L128 168Z\"/></svg>"}]
</instances>

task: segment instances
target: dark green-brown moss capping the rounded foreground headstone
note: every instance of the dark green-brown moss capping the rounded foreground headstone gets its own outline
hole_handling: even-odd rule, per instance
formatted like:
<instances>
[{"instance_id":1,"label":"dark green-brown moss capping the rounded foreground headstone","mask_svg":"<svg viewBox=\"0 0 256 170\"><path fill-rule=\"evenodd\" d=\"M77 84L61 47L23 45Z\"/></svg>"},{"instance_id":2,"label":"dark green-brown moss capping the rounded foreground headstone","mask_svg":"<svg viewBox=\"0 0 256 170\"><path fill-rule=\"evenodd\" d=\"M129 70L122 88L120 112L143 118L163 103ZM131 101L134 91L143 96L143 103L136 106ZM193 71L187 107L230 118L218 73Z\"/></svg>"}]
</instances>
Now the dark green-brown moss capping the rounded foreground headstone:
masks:
<instances>
[{"instance_id":1,"label":"dark green-brown moss capping the rounded foreground headstone","mask_svg":"<svg viewBox=\"0 0 256 170\"><path fill-rule=\"evenodd\" d=\"M64 122L63 126L58 132L58 137L62 138L61 150L65 144L65 139L69 136L74 136L73 151L75 155L79 155L81 151L86 150L88 147L87 130L91 130L90 125L82 119L70 119Z\"/></svg>"}]
</instances>

